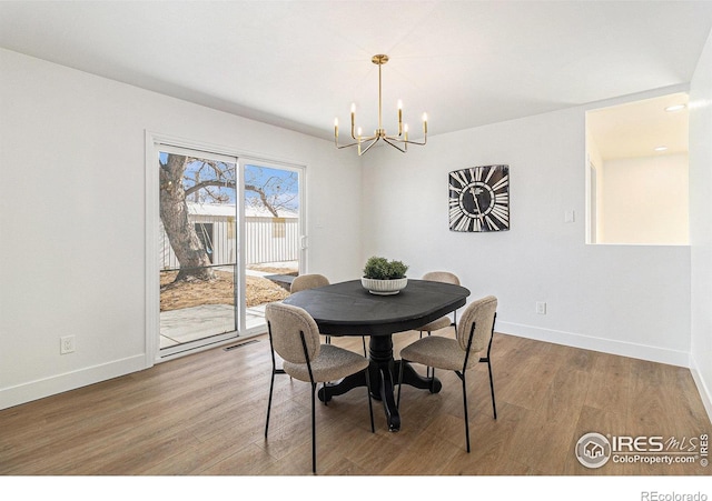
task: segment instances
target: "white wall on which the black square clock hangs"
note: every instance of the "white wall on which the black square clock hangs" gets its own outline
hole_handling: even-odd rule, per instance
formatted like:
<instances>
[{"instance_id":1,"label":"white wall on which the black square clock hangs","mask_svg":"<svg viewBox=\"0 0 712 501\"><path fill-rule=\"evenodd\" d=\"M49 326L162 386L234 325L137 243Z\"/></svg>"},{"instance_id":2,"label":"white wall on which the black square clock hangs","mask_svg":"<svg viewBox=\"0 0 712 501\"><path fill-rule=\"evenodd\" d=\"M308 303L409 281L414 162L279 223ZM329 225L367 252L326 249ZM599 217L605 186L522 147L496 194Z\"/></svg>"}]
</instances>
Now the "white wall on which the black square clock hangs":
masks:
<instances>
[{"instance_id":1,"label":"white wall on which the black square clock hangs","mask_svg":"<svg viewBox=\"0 0 712 501\"><path fill-rule=\"evenodd\" d=\"M472 299L500 298L502 332L686 365L690 248L585 244L584 121L582 107L369 152L362 259L455 272ZM510 166L511 230L451 232L447 173L495 163Z\"/></svg>"}]
</instances>

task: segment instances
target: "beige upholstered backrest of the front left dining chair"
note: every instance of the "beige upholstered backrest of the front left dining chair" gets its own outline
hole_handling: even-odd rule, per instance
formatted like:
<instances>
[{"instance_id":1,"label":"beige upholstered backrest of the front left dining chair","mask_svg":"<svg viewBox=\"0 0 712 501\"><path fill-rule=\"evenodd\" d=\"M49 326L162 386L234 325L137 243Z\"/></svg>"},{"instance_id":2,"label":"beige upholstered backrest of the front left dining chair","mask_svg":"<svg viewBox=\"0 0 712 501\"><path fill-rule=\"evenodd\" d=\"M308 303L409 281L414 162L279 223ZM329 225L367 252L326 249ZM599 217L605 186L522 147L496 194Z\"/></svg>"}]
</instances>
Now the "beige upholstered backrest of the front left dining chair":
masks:
<instances>
[{"instance_id":1,"label":"beige upholstered backrest of the front left dining chair","mask_svg":"<svg viewBox=\"0 0 712 501\"><path fill-rule=\"evenodd\" d=\"M309 361L319 354L319 328L299 307L274 302L265 307L265 318L274 350L287 362L306 363L299 332L304 332Z\"/></svg>"}]
</instances>

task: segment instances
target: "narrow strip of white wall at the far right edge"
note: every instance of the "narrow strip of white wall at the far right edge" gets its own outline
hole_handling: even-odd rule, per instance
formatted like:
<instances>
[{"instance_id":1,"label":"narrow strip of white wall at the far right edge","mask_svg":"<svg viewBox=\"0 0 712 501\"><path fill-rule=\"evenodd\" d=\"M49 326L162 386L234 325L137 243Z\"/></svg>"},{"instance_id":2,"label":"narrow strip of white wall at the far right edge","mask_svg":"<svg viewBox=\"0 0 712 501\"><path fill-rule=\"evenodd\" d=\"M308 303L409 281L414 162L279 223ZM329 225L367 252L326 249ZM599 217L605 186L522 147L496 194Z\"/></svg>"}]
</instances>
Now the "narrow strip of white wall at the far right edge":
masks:
<instances>
[{"instance_id":1,"label":"narrow strip of white wall at the far right edge","mask_svg":"<svg viewBox=\"0 0 712 501\"><path fill-rule=\"evenodd\" d=\"M690 243L692 341L690 365L712 415L712 38L690 86Z\"/></svg>"}]
</instances>

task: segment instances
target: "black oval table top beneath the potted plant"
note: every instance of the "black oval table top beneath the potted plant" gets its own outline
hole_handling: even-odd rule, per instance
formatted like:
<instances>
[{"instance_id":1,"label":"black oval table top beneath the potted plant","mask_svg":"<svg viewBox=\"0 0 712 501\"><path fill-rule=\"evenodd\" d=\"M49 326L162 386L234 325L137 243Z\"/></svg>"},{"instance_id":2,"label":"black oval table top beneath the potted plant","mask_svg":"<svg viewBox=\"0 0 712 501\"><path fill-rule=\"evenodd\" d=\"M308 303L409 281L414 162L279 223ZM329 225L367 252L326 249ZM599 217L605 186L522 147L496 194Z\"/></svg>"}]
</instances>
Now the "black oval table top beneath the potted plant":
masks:
<instances>
[{"instance_id":1,"label":"black oval table top beneath the potted plant","mask_svg":"<svg viewBox=\"0 0 712 501\"><path fill-rule=\"evenodd\" d=\"M397 294L377 295L352 280L295 292L284 302L309 312L324 334L389 335L455 311L468 295L464 287L414 279Z\"/></svg>"}]
</instances>

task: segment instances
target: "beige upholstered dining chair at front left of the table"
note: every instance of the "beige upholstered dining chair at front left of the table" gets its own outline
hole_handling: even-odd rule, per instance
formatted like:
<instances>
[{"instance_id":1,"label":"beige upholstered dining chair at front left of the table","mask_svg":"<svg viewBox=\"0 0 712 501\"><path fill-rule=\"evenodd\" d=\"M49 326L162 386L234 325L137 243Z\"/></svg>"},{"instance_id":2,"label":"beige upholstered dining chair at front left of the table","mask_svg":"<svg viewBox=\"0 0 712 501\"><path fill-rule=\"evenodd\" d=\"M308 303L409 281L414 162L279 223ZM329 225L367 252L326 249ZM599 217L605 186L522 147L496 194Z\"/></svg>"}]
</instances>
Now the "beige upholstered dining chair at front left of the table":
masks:
<instances>
[{"instance_id":1,"label":"beige upholstered dining chair at front left of the table","mask_svg":"<svg viewBox=\"0 0 712 501\"><path fill-rule=\"evenodd\" d=\"M267 402L267 420L265 421L265 439L269 429L271 397L275 388L275 352L283 359L284 371L299 381L312 384L312 471L316 473L316 391L317 383L336 381L347 375L364 371L366 375L366 393L370 414L370 431L375 432L374 410L370 401L370 380L368 377L368 359L353 351L322 344L319 329L312 315L304 309L284 304L269 303L265 308L267 332L271 348L271 382Z\"/></svg>"}]
</instances>

